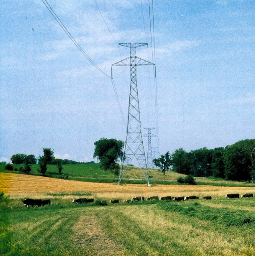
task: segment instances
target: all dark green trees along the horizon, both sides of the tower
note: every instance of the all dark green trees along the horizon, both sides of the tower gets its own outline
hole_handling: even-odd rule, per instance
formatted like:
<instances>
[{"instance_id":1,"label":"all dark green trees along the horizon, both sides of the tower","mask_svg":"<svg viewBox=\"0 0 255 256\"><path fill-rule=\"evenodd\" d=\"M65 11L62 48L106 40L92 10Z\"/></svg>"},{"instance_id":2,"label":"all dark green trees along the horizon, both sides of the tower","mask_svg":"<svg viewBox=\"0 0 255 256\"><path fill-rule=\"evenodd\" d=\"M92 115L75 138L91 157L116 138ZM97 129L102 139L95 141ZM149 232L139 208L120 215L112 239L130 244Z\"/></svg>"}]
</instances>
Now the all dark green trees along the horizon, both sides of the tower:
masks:
<instances>
[{"instance_id":1,"label":"all dark green trees along the horizon, both sides of the tower","mask_svg":"<svg viewBox=\"0 0 255 256\"><path fill-rule=\"evenodd\" d=\"M122 150L123 141L101 138L94 145L93 157L100 161L100 167L118 175L118 161L125 157ZM46 174L47 164L57 165L59 174L62 165L82 164L73 160L56 159L50 148L43 148L43 151L44 155L39 156L38 159L34 155L16 154L11 157L11 161L13 164L23 164L21 171L28 173L29 165L36 164L38 160L43 175ZM160 158L155 158L154 164L160 167L163 174L172 169L173 172L193 177L213 176L226 180L255 181L255 139L241 140L233 145L214 149L203 147L190 152L179 148L172 155L167 152Z\"/></svg>"}]
</instances>

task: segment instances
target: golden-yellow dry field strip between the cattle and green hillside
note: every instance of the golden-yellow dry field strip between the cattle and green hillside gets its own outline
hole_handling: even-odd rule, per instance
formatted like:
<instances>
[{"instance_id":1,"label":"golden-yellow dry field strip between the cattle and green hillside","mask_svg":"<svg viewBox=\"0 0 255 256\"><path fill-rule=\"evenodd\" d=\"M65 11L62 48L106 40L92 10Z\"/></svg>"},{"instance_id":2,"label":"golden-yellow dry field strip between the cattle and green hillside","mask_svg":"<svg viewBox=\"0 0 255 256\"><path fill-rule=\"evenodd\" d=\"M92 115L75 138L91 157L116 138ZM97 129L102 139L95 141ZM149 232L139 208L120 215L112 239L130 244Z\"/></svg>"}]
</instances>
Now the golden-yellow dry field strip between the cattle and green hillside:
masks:
<instances>
[{"instance_id":1,"label":"golden-yellow dry field strip between the cattle and green hillside","mask_svg":"<svg viewBox=\"0 0 255 256\"><path fill-rule=\"evenodd\" d=\"M12 198L39 197L42 194L46 195L46 193L61 192L88 192L105 199L130 199L141 194L145 197L168 195L197 195L202 197L211 195L217 198L224 197L226 193L255 193L255 188L251 187L219 187L209 185L154 185L148 187L146 184L124 184L119 186L113 183L69 181L42 176L7 173L0 173L0 190Z\"/></svg>"}]
</instances>

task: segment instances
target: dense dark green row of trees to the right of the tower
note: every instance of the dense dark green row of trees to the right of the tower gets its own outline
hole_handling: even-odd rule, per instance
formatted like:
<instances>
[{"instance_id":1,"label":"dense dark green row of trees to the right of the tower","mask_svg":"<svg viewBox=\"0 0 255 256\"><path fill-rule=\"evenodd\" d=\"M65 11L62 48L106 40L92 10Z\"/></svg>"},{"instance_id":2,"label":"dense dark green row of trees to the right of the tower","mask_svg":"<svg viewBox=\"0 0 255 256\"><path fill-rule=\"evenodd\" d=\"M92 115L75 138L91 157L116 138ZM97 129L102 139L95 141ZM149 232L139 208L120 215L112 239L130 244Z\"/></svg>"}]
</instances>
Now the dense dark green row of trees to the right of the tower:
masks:
<instances>
[{"instance_id":1,"label":"dense dark green row of trees to the right of the tower","mask_svg":"<svg viewBox=\"0 0 255 256\"><path fill-rule=\"evenodd\" d=\"M165 155L162 156L165 157ZM158 159L162 160L162 156ZM159 161L158 159L155 159L155 164ZM255 181L255 139L241 140L226 147L214 149L204 147L190 152L179 148L168 159L170 159L169 166L172 166L172 171L179 174Z\"/></svg>"}]
</instances>

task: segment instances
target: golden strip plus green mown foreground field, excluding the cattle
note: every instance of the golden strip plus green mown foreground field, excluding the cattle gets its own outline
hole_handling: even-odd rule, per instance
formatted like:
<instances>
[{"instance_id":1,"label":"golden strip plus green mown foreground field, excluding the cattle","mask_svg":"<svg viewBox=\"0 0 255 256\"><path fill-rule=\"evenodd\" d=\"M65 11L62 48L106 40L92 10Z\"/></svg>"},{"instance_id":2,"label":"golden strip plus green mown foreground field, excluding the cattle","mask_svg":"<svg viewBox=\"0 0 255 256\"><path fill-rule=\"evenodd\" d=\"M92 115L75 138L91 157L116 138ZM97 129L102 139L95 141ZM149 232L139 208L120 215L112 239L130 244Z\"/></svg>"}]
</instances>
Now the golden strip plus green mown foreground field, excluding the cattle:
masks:
<instances>
[{"instance_id":1,"label":"golden strip plus green mown foreground field, excluding the cattle","mask_svg":"<svg viewBox=\"0 0 255 256\"><path fill-rule=\"evenodd\" d=\"M5 255L255 255L255 199L228 200L226 193L254 187L91 183L0 173L9 198L1 203L0 247ZM110 199L211 195L203 201ZM52 205L25 208L27 197ZM73 198L108 201L73 204Z\"/></svg>"}]
</instances>

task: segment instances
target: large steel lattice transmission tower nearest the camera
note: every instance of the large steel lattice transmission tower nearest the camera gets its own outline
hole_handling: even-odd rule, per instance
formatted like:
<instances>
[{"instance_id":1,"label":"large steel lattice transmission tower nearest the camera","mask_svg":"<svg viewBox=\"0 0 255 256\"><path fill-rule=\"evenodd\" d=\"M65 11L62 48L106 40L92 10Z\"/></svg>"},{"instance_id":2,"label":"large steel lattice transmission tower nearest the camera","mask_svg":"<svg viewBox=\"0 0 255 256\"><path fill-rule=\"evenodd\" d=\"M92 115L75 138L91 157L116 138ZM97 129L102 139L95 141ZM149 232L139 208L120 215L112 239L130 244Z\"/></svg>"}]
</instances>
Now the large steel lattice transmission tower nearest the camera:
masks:
<instances>
[{"instance_id":1,"label":"large steel lattice transmission tower nearest the camera","mask_svg":"<svg viewBox=\"0 0 255 256\"><path fill-rule=\"evenodd\" d=\"M118 184L121 182L133 159L136 158L146 178L148 186L150 186L141 130L140 109L137 91L137 66L155 64L136 56L137 48L146 46L148 45L147 43L123 43L118 45L130 48L130 57L112 64L112 66L130 66L130 92L127 117L127 133L124 145L124 157L122 158Z\"/></svg>"}]
</instances>

